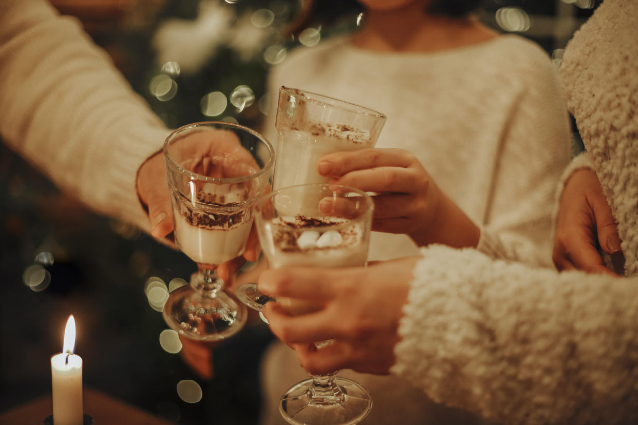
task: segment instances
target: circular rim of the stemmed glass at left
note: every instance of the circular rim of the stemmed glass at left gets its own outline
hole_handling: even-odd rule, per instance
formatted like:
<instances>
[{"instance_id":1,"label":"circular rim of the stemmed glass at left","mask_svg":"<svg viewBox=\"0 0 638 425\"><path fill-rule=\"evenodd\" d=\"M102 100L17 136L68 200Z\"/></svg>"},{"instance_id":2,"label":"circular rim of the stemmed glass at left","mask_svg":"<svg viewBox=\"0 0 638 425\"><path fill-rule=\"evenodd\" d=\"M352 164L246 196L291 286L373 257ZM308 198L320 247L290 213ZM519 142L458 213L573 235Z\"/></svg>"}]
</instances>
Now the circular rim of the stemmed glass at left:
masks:
<instances>
[{"instance_id":1,"label":"circular rim of the stemmed glass at left","mask_svg":"<svg viewBox=\"0 0 638 425\"><path fill-rule=\"evenodd\" d=\"M241 176L241 177L210 177L210 176L205 176L205 175L201 175L198 173L193 173L193 171L188 171L188 169L182 167L181 165L177 164L177 162L175 162L170 155L168 154L168 143L170 143L171 140L173 140L173 138L175 136L177 136L177 134L181 133L182 131L186 131L188 129L191 128L195 128L195 127L205 127L205 126L210 126L210 127L230 127L232 129L235 130L241 130L244 131L245 133L249 133L252 136L255 136L258 140L262 141L264 143L264 145L266 146L266 148L268 149L268 152L271 154L271 157L269 158L268 162L266 162L262 168L260 168L256 173L253 174L249 174L247 176ZM176 129L174 129L173 131L170 132L170 134L168 134L166 140L164 140L164 144L162 147L162 154L164 155L164 159L165 161L170 162L170 164L172 164L174 166L174 168L177 169L177 171L179 171L179 173L182 174L186 174L186 175L190 175L191 176L191 180L199 180L201 182L214 182L214 183L218 183L218 184L234 184L234 183L241 183L241 182L248 182L248 180L253 180L254 178L260 177L262 176L264 173L267 173L272 166L274 165L275 162L275 150L271 145L271 142L269 142L265 136L263 136L263 134L256 132L255 130L246 127L246 126L242 126L241 124L235 124L234 122L227 122L227 121L200 121L200 122L192 122L191 124L186 124L184 126L178 127Z\"/></svg>"}]
</instances>

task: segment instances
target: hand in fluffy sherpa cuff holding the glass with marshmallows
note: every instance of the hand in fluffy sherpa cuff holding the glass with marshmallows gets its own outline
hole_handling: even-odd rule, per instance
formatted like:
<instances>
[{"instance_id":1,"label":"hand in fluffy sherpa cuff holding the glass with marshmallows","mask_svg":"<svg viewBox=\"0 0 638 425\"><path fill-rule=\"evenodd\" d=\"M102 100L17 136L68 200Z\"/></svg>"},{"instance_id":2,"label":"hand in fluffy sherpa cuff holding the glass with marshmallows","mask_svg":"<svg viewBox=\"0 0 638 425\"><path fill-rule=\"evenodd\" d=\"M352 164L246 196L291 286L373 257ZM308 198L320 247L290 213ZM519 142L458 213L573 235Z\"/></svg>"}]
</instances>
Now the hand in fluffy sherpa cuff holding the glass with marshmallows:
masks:
<instances>
[{"instance_id":1,"label":"hand in fluffy sherpa cuff holding the glass with marshmallows","mask_svg":"<svg viewBox=\"0 0 638 425\"><path fill-rule=\"evenodd\" d=\"M269 302L263 315L272 332L295 349L309 373L348 368L383 375L396 360L399 320L419 258L357 268L264 271L258 286L265 294L312 301L318 310L295 316ZM316 349L314 342L325 340L333 341Z\"/></svg>"}]
</instances>

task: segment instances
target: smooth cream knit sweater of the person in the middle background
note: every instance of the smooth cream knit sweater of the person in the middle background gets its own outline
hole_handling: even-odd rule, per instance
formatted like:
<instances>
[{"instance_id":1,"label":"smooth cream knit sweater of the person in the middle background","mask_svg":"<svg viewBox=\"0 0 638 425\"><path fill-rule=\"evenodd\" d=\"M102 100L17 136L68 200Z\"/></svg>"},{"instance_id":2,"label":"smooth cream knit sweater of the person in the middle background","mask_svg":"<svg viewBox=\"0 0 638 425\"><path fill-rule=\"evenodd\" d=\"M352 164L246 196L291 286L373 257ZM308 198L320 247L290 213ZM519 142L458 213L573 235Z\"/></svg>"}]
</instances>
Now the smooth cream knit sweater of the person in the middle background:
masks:
<instances>
[{"instance_id":1,"label":"smooth cream knit sweater of the person in the middle background","mask_svg":"<svg viewBox=\"0 0 638 425\"><path fill-rule=\"evenodd\" d=\"M376 147L415 154L481 227L494 257L551 264L554 192L568 164L568 114L558 74L531 41L504 35L434 54L375 53L336 38L300 47L271 72L269 91L296 87L361 104L388 117ZM277 97L271 99L276 105ZM265 129L276 140L274 116ZM373 234L371 259L418 254L404 235ZM306 377L274 344L263 361L263 424L283 424L281 394ZM367 424L476 424L434 405L403 377L340 371L373 396Z\"/></svg>"}]
</instances>

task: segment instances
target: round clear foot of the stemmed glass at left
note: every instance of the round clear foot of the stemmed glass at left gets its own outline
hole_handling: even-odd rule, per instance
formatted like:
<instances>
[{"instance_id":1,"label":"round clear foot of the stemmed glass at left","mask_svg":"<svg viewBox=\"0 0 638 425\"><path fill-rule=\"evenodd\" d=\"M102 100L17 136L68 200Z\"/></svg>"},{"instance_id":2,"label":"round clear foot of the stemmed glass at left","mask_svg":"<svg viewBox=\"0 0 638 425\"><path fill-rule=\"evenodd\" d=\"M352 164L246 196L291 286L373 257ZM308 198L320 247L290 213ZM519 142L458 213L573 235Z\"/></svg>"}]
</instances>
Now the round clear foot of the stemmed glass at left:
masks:
<instances>
[{"instance_id":1,"label":"round clear foot of the stemmed glass at left","mask_svg":"<svg viewBox=\"0 0 638 425\"><path fill-rule=\"evenodd\" d=\"M170 293L162 313L179 335L198 341L219 341L241 331L248 310L230 294L218 291L205 298L191 285Z\"/></svg>"}]
</instances>

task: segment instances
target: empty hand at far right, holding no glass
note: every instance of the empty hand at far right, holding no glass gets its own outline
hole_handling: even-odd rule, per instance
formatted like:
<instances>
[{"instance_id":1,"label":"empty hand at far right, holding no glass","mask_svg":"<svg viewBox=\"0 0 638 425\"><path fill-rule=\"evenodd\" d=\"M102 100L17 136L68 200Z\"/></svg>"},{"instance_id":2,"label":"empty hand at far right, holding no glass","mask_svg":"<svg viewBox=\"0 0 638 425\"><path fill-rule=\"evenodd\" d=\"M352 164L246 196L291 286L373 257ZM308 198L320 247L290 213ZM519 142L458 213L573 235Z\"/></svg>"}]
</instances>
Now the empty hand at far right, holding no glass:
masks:
<instances>
[{"instance_id":1,"label":"empty hand at far right, holding no glass","mask_svg":"<svg viewBox=\"0 0 638 425\"><path fill-rule=\"evenodd\" d=\"M590 168L577 169L563 187L553 261L558 270L584 270L610 273L598 254L597 246L607 254L620 252L618 223L611 213L598 176Z\"/></svg>"}]
</instances>

